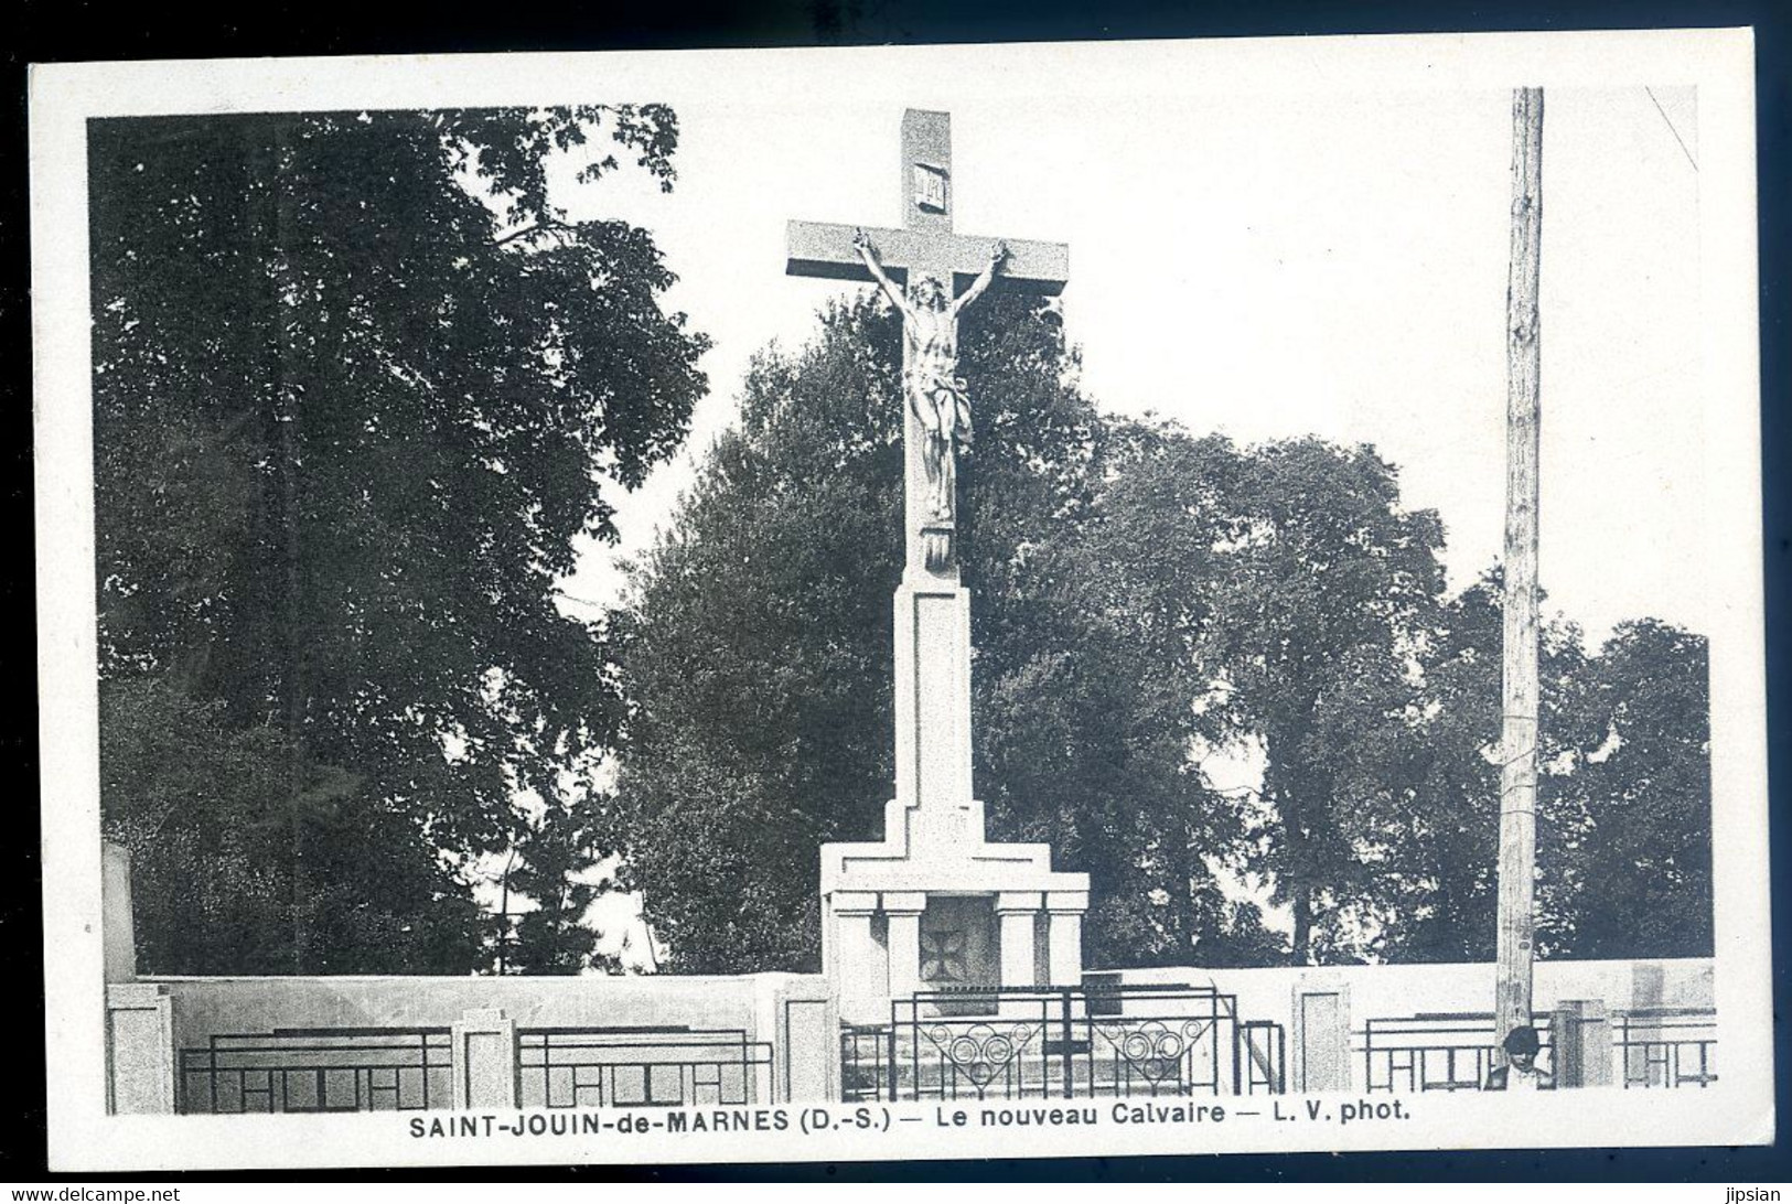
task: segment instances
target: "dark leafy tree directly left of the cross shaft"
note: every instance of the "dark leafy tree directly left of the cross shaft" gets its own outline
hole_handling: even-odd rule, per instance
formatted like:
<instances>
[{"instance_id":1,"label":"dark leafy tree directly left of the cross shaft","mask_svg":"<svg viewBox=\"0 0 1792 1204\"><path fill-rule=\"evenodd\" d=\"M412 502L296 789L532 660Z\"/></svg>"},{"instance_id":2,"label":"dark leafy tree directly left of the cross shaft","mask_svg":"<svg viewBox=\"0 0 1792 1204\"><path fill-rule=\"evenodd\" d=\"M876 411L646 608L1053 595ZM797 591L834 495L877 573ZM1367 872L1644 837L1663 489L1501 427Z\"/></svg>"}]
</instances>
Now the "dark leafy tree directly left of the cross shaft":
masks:
<instances>
[{"instance_id":1,"label":"dark leafy tree directly left of the cross shaft","mask_svg":"<svg viewBox=\"0 0 1792 1204\"><path fill-rule=\"evenodd\" d=\"M814 966L817 846L889 792L900 328L833 310L767 353L616 615L625 885L694 973Z\"/></svg>"}]
</instances>

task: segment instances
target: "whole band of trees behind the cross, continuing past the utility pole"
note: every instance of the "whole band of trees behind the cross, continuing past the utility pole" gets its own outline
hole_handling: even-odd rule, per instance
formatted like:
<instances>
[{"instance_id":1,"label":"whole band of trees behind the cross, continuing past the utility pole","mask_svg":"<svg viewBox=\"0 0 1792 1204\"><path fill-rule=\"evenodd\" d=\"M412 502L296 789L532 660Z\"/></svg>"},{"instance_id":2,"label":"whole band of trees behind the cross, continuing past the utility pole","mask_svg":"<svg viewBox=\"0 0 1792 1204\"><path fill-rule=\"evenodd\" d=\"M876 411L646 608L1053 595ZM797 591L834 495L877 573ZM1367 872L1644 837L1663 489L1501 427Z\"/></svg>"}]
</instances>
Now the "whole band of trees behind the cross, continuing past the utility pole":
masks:
<instances>
[{"instance_id":1,"label":"whole band of trees behind the cross, continuing past the utility pole","mask_svg":"<svg viewBox=\"0 0 1792 1204\"><path fill-rule=\"evenodd\" d=\"M995 294L964 331L989 837L1091 876L1091 966L1491 957L1498 577L1450 597L1437 516L1373 448L1102 417L1054 317ZM858 301L763 355L634 566L609 819L670 968L812 968L817 846L880 831L898 337ZM1704 720L1677 722L1701 656L1659 624L1597 656L1546 627L1545 953L1708 948ZM1213 758L1260 788L1211 788Z\"/></svg>"}]
</instances>

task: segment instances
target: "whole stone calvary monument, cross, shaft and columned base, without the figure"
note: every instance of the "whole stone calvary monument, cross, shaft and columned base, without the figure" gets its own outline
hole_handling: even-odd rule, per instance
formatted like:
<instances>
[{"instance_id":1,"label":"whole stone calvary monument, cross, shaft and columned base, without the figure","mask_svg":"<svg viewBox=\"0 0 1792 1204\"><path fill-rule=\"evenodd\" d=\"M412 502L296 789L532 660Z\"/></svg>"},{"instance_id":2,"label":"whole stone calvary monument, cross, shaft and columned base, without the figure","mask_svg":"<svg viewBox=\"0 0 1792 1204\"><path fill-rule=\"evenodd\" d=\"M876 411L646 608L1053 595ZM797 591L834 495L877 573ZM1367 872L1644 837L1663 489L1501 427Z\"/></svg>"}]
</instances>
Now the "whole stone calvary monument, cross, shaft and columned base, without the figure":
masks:
<instances>
[{"instance_id":1,"label":"whole stone calvary monument, cross, shaft and columned base, without the figure","mask_svg":"<svg viewBox=\"0 0 1792 1204\"><path fill-rule=\"evenodd\" d=\"M910 297L930 278L943 285L948 308L991 269L1000 288L1063 290L1070 276L1063 244L953 233L948 113L903 113L900 197L901 226L866 228L867 254L855 245L857 226L790 222L787 272L876 281L882 271L910 285ZM937 321L948 322L944 340L955 357L955 315ZM916 348L914 317L905 322L896 797L885 806L882 842L821 847L823 964L840 984L840 1014L851 1021L889 1019L892 1000L926 987L1075 985L1090 899L1088 874L1054 873L1048 846L984 838L984 808L971 792L971 598L959 579L952 500L939 503L928 430L912 403L910 378L926 351ZM975 408L975 391L969 403ZM953 1009L928 1000L916 1010Z\"/></svg>"}]
</instances>

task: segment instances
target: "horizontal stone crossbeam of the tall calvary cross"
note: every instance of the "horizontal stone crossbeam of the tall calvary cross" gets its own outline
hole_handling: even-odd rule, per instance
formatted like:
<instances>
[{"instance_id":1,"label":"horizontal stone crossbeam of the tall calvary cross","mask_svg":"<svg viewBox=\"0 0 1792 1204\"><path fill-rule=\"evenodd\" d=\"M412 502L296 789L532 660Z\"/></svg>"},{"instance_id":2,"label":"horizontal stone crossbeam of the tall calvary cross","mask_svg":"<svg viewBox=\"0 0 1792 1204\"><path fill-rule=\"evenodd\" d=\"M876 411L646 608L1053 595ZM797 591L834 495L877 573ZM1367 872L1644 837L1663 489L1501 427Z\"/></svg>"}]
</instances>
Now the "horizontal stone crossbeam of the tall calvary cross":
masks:
<instances>
[{"instance_id":1,"label":"horizontal stone crossbeam of the tall calvary cross","mask_svg":"<svg viewBox=\"0 0 1792 1204\"><path fill-rule=\"evenodd\" d=\"M853 249L853 233L858 226L837 222L790 222L788 226L788 276L824 276L828 280L869 281L858 251ZM934 271L944 276L952 272L952 287L977 280L989 265L989 253L995 251L996 238L978 238L975 235L955 235L923 229L887 229L864 228L871 236L871 247L883 263L883 271L896 283L909 281L910 269ZM1047 297L1055 297L1070 280L1070 247L1061 242L1025 242L1004 238L1009 254L1002 262L996 280L1005 288L1020 288Z\"/></svg>"}]
</instances>

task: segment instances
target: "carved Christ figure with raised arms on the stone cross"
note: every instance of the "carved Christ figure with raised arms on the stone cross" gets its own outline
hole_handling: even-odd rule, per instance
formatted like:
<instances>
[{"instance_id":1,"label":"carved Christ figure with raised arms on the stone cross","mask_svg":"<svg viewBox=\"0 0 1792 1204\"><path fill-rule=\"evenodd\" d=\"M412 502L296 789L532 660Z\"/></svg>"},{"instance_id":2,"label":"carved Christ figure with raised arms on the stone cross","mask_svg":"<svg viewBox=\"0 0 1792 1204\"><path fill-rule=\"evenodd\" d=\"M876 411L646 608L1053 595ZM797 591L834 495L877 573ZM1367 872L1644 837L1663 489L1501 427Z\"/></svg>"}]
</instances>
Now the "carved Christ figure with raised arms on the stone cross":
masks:
<instances>
[{"instance_id":1,"label":"carved Christ figure with raised arms on the stone cross","mask_svg":"<svg viewBox=\"0 0 1792 1204\"><path fill-rule=\"evenodd\" d=\"M961 446L971 446L971 400L959 376L959 314L989 290L996 269L1007 258L1007 245L1000 242L995 245L989 267L957 301L950 299L937 276L919 272L909 281L909 296L903 297L901 288L878 263L866 231L853 235L853 247L883 296L901 312L903 340L909 346L903 392L921 430L926 432L921 464L926 466L932 502L928 509L934 521L950 523L959 484L957 452Z\"/></svg>"}]
</instances>

